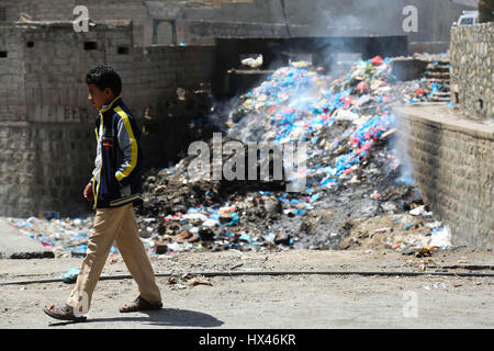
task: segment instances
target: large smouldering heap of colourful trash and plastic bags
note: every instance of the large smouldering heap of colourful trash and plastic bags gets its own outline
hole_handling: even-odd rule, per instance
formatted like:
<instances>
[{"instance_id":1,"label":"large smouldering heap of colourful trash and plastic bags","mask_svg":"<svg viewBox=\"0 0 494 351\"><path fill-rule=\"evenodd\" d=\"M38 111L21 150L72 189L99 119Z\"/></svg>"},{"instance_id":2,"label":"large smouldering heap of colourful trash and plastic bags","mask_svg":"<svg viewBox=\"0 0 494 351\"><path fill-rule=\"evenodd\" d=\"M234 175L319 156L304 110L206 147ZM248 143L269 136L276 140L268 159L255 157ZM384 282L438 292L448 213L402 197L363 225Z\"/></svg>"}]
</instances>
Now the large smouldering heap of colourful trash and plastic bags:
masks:
<instances>
[{"instance_id":1,"label":"large smouldering heap of colourful trash and plastic bags","mask_svg":"<svg viewBox=\"0 0 494 351\"><path fill-rule=\"evenodd\" d=\"M414 91L393 77L392 67L392 59L378 56L333 80L321 68L295 63L244 94L228 115L222 145L304 143L304 167L296 177L305 179L305 186L289 192L287 184L294 179L287 178L191 180L195 155L188 156L146 179L136 213L148 251L335 249L340 242L339 248L355 248L359 239L348 241L352 228L379 218L388 226L373 228L371 237L394 233L398 238L383 247L449 246L447 230L426 211L392 148L389 107L406 103ZM222 152L220 159L207 159L214 168L229 157Z\"/></svg>"}]
</instances>

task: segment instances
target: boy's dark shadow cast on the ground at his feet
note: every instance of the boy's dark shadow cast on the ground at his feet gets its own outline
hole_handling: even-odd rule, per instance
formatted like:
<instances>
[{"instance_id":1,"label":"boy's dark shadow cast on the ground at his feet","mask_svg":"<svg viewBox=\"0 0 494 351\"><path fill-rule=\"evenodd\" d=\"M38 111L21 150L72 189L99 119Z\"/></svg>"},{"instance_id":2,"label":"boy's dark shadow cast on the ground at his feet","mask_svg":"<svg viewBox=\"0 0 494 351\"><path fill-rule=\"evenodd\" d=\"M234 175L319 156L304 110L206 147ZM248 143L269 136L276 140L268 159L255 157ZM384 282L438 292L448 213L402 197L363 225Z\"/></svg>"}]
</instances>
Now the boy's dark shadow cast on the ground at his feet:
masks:
<instances>
[{"instance_id":1,"label":"boy's dark shadow cast on the ground at his feet","mask_svg":"<svg viewBox=\"0 0 494 351\"><path fill-rule=\"evenodd\" d=\"M178 309L178 308L161 308L159 310L145 312L147 317L115 317L115 318L94 318L83 321L90 322L143 322L151 326L162 327L199 327L213 328L220 327L224 322L213 316L201 312ZM49 324L49 327L59 327L77 324L75 321ZM109 325L109 327L116 327Z\"/></svg>"}]
</instances>

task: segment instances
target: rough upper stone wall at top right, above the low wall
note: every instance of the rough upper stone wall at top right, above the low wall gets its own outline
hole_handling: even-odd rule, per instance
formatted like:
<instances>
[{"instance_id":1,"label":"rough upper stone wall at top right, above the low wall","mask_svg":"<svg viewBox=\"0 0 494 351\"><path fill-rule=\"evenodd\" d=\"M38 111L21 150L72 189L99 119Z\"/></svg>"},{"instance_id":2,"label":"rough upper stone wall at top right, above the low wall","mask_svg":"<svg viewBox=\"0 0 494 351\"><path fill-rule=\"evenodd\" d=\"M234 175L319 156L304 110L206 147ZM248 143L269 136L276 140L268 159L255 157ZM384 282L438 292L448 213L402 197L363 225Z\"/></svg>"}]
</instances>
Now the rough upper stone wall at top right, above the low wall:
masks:
<instances>
[{"instance_id":1,"label":"rough upper stone wall at top right, above the low wall","mask_svg":"<svg viewBox=\"0 0 494 351\"><path fill-rule=\"evenodd\" d=\"M451 101L469 118L494 120L494 23L451 29Z\"/></svg>"}]
</instances>

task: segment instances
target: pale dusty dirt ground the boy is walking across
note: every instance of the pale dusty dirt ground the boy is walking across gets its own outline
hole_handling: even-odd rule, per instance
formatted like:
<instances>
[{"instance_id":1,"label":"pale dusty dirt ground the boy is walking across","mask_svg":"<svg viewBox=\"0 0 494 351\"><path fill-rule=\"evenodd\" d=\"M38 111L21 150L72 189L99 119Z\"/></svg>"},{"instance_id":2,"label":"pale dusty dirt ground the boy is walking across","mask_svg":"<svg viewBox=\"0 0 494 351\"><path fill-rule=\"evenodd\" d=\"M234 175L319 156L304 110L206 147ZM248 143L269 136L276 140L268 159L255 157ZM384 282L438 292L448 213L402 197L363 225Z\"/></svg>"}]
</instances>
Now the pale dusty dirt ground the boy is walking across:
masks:
<instances>
[{"instance_id":1,"label":"pale dusty dirt ground the boy is walking across","mask_svg":"<svg viewBox=\"0 0 494 351\"><path fill-rule=\"evenodd\" d=\"M82 259L0 260L0 282L59 278ZM392 250L259 253L227 251L153 256L164 308L120 314L133 301L132 279L98 283L87 322L64 322L42 307L64 302L74 284L63 282L2 285L0 328L492 328L494 279L381 275L202 276L211 285L192 285L204 271L404 271L486 272L492 251L456 248L430 257ZM29 272L27 274L25 272ZM128 274L111 257L104 274Z\"/></svg>"}]
</instances>

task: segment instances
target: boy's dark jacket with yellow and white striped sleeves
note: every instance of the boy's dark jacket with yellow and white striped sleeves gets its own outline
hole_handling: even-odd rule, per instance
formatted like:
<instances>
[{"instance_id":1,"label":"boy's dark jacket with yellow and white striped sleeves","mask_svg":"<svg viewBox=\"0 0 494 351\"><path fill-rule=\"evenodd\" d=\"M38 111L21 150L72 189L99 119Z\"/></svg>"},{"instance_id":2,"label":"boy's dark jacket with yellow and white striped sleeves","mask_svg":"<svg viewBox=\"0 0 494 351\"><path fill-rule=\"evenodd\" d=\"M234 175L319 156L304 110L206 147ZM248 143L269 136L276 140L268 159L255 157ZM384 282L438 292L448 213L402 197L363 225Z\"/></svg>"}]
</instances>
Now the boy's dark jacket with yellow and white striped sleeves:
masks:
<instances>
[{"instance_id":1,"label":"boy's dark jacket with yellow and white striped sleeves","mask_svg":"<svg viewBox=\"0 0 494 351\"><path fill-rule=\"evenodd\" d=\"M143 151L141 133L122 98L99 111L96 120L97 158L91 183L94 208L141 202Z\"/></svg>"}]
</instances>

